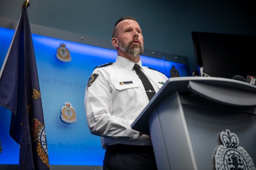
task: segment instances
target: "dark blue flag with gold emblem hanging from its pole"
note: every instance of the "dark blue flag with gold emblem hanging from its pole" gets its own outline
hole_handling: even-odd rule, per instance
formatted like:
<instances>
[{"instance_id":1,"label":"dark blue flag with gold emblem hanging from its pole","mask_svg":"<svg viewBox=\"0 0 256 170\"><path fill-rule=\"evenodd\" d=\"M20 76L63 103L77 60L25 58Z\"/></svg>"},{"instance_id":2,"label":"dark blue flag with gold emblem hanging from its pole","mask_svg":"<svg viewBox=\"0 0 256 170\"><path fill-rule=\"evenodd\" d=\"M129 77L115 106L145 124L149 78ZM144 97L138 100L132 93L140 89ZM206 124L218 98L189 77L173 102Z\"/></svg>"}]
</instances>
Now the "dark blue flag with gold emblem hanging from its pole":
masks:
<instances>
[{"instance_id":1,"label":"dark blue flag with gold emblem hanging from its pole","mask_svg":"<svg viewBox=\"0 0 256 170\"><path fill-rule=\"evenodd\" d=\"M10 135L20 144L20 170L49 170L41 93L27 8L0 71L0 106L11 110Z\"/></svg>"}]
</instances>

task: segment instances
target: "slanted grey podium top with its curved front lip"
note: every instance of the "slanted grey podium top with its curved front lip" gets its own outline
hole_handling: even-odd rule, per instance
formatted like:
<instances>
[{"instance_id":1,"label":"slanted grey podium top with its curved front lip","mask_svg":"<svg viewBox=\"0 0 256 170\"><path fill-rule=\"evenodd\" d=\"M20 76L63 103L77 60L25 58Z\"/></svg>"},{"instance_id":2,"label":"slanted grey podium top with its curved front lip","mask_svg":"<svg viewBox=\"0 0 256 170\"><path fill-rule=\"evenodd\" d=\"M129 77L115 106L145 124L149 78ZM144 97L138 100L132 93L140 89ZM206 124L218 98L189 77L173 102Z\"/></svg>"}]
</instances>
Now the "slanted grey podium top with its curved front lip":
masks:
<instances>
[{"instance_id":1,"label":"slanted grey podium top with its curved front lip","mask_svg":"<svg viewBox=\"0 0 256 170\"><path fill-rule=\"evenodd\" d=\"M131 127L141 132L148 132L147 121L151 111L175 92L195 93L203 98L230 106L256 106L256 86L246 82L220 77L174 77L165 82Z\"/></svg>"}]
</instances>

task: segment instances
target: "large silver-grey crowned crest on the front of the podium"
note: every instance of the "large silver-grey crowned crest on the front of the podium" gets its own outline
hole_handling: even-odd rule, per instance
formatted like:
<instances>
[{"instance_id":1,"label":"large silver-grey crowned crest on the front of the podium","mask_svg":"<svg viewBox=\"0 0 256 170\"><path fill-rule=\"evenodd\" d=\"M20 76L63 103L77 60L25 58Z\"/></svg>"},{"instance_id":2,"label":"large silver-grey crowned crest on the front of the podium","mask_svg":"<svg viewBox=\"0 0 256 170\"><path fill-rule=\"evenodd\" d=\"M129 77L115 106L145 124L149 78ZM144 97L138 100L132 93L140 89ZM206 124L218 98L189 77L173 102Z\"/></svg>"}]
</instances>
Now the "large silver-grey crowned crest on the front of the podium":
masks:
<instances>
[{"instance_id":1,"label":"large silver-grey crowned crest on the front of the podium","mask_svg":"<svg viewBox=\"0 0 256 170\"><path fill-rule=\"evenodd\" d=\"M235 133L221 132L223 145L220 145L215 154L216 170L256 170L249 154L242 146L238 146L239 139Z\"/></svg>"}]
</instances>

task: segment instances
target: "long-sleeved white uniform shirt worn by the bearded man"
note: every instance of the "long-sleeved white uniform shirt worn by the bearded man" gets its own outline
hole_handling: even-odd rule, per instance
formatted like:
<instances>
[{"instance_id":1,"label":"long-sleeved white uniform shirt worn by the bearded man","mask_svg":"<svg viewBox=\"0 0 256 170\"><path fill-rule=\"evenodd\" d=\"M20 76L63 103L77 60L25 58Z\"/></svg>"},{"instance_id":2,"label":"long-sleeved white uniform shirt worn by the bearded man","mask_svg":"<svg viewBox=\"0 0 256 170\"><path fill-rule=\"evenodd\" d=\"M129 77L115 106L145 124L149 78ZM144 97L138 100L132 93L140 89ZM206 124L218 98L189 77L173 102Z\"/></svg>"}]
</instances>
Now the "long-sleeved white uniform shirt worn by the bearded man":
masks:
<instances>
[{"instance_id":1,"label":"long-sleeved white uniform shirt worn by the bearded man","mask_svg":"<svg viewBox=\"0 0 256 170\"><path fill-rule=\"evenodd\" d=\"M91 133L101 136L103 148L112 144L152 145L147 135L131 128L131 124L149 103L144 86L133 69L134 62L117 56L115 63L96 68L98 76L85 92L85 110ZM157 93L168 78L162 73L137 64ZM132 81L120 85L120 82Z\"/></svg>"}]
</instances>

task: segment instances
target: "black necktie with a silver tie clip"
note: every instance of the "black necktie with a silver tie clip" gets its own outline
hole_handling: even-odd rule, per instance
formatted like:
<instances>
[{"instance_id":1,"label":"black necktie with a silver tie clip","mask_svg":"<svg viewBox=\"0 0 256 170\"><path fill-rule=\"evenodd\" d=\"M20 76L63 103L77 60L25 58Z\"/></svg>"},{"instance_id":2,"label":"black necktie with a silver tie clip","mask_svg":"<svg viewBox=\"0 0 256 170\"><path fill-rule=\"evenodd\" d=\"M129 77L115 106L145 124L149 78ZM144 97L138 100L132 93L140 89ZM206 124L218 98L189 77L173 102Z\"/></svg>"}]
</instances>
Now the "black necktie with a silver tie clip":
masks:
<instances>
[{"instance_id":1,"label":"black necktie with a silver tie clip","mask_svg":"<svg viewBox=\"0 0 256 170\"><path fill-rule=\"evenodd\" d=\"M140 70L140 66L138 64L134 64L133 68L139 76L149 100L151 100L152 97L156 94L152 84L150 83L146 75Z\"/></svg>"}]
</instances>

